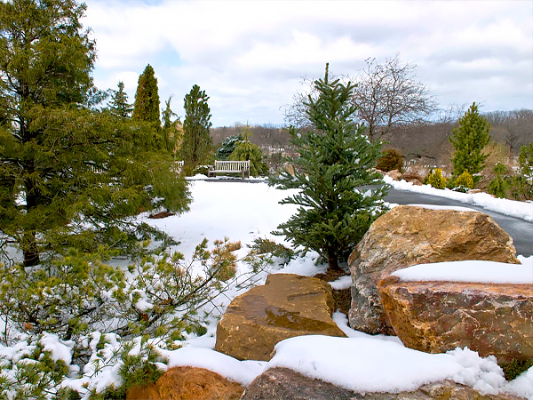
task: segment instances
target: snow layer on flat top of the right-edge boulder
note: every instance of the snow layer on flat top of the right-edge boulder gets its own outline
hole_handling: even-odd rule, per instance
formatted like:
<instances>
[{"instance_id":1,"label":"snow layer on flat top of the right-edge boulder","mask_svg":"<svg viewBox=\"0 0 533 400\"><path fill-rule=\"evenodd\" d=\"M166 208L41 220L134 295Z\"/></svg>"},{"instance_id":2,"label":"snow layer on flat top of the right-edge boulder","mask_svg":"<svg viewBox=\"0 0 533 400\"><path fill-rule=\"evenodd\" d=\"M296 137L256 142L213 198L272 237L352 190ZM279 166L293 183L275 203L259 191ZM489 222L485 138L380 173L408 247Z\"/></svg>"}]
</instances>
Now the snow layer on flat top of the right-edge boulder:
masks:
<instances>
[{"instance_id":1,"label":"snow layer on flat top of the right-edge boulder","mask_svg":"<svg viewBox=\"0 0 533 400\"><path fill-rule=\"evenodd\" d=\"M418 264L395 271L403 281L453 281L480 284L533 284L531 265L468 260Z\"/></svg>"}]
</instances>

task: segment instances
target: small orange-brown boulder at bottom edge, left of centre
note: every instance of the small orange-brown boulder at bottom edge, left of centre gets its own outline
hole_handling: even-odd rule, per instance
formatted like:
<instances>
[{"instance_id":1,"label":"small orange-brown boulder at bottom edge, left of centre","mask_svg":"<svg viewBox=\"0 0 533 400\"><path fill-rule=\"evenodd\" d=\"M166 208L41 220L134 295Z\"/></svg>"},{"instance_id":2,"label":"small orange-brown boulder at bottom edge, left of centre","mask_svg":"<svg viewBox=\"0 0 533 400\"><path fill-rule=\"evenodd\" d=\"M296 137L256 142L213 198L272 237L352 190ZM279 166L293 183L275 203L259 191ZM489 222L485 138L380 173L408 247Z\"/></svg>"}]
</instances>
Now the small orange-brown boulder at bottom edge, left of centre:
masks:
<instances>
[{"instance_id":1,"label":"small orange-brown boulder at bottom edge, left of centre","mask_svg":"<svg viewBox=\"0 0 533 400\"><path fill-rule=\"evenodd\" d=\"M128 392L126 400L237 400L244 388L203 368L175 367L155 383Z\"/></svg>"}]
</instances>

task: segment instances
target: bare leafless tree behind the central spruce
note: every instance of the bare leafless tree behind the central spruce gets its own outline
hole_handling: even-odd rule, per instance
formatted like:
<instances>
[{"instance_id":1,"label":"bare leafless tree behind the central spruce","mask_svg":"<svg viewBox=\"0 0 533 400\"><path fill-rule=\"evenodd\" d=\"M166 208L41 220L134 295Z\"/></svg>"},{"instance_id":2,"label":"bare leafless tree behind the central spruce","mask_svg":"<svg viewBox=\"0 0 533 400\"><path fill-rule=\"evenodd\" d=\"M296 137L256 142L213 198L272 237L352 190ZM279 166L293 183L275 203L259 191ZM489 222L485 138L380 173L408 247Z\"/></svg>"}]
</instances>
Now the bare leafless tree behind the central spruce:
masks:
<instances>
[{"instance_id":1,"label":"bare leafless tree behind the central spruce","mask_svg":"<svg viewBox=\"0 0 533 400\"><path fill-rule=\"evenodd\" d=\"M357 116L367 125L370 140L382 137L395 127L426 122L436 110L436 102L417 80L417 66L402 63L396 54L383 64L366 60L367 66L352 79L357 84L354 104Z\"/></svg>"}]
</instances>

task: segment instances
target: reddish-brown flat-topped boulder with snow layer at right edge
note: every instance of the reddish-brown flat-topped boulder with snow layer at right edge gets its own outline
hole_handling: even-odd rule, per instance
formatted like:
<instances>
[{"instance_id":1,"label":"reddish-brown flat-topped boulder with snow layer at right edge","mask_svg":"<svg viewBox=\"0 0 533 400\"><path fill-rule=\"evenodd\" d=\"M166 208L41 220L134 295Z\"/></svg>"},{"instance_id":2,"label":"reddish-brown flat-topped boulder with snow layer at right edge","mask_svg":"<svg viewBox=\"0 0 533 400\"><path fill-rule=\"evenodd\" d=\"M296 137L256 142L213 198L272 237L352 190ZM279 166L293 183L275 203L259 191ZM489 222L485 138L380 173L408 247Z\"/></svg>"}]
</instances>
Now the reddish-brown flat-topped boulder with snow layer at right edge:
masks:
<instances>
[{"instance_id":1,"label":"reddish-brown flat-topped boulder with snow layer at right edge","mask_svg":"<svg viewBox=\"0 0 533 400\"><path fill-rule=\"evenodd\" d=\"M533 359L530 284L382 280L379 296L394 331L408 348L444 353L468 347L500 365Z\"/></svg>"}]
</instances>

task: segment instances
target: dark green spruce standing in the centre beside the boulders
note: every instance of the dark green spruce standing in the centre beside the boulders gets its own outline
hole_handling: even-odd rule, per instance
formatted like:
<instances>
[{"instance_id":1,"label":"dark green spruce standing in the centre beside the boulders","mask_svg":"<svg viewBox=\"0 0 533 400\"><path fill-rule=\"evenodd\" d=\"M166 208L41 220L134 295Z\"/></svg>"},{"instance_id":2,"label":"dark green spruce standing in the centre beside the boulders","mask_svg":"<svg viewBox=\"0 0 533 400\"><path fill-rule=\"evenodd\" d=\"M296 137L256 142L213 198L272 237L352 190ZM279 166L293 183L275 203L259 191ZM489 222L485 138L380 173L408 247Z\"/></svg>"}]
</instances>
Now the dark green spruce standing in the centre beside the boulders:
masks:
<instances>
[{"instance_id":1,"label":"dark green spruce standing in the centre beside the boulders","mask_svg":"<svg viewBox=\"0 0 533 400\"><path fill-rule=\"evenodd\" d=\"M298 211L278 226L276 235L284 235L294 246L311 249L338 268L347 259L370 224L385 211L382 197L386 188L371 192L363 185L383 183L373 172L380 156L380 144L370 143L361 124L354 123L351 103L354 84L329 82L328 67L324 79L314 82L318 98L308 96L306 116L312 128L290 130L291 142L298 149L292 161L294 176L282 172L269 185L282 189L298 188L296 195L281 204L297 204Z\"/></svg>"}]
</instances>

